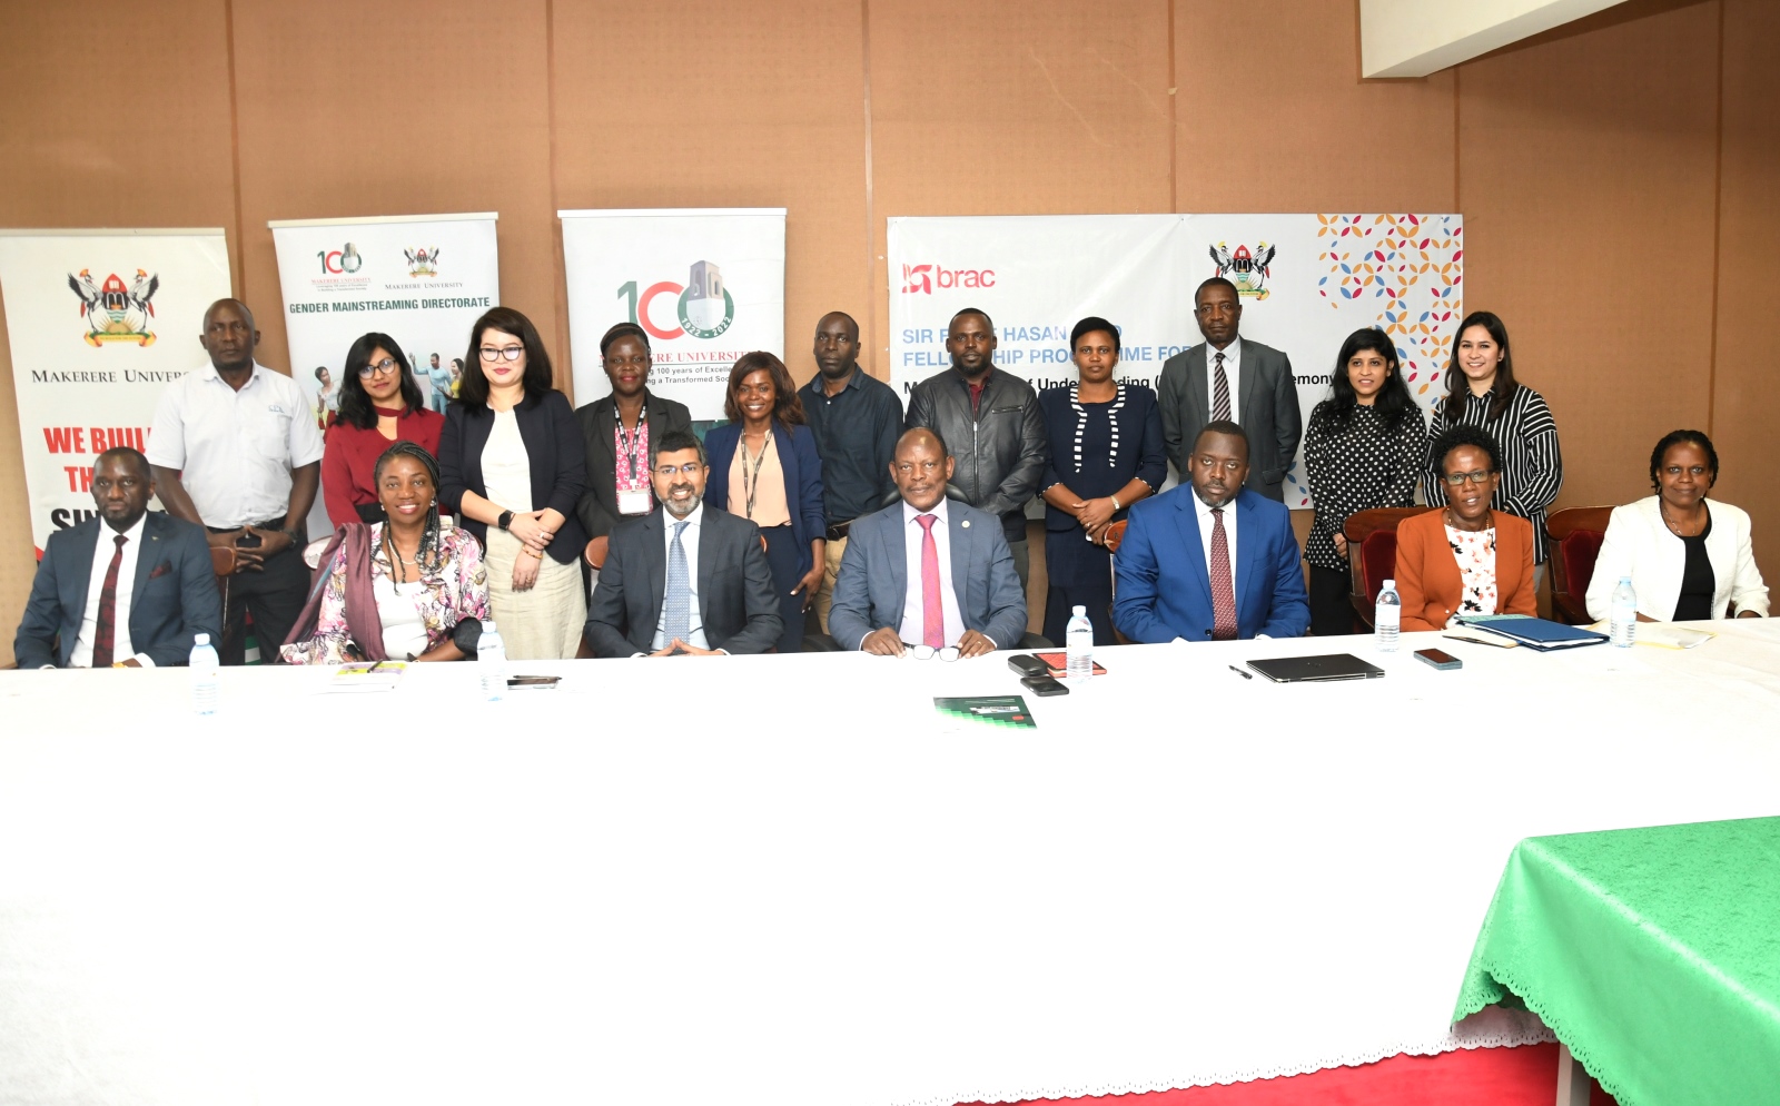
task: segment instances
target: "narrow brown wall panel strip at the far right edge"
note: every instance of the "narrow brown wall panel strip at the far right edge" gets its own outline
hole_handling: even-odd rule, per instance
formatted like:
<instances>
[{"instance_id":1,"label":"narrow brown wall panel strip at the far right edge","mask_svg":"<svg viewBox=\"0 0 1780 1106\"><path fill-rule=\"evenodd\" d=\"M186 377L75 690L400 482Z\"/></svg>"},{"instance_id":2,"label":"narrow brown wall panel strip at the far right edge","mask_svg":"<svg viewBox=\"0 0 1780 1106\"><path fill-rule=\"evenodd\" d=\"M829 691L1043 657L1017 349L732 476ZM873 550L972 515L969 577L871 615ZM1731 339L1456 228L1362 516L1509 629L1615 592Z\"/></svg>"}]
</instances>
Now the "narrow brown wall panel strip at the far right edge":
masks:
<instances>
[{"instance_id":1,"label":"narrow brown wall panel strip at the far right edge","mask_svg":"<svg viewBox=\"0 0 1780 1106\"><path fill-rule=\"evenodd\" d=\"M1755 554L1780 591L1775 290L1780 289L1780 4L1725 5L1725 160L1719 210L1714 490L1755 520Z\"/></svg>"}]
</instances>

